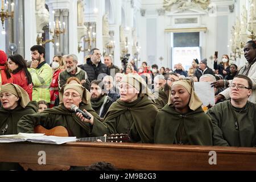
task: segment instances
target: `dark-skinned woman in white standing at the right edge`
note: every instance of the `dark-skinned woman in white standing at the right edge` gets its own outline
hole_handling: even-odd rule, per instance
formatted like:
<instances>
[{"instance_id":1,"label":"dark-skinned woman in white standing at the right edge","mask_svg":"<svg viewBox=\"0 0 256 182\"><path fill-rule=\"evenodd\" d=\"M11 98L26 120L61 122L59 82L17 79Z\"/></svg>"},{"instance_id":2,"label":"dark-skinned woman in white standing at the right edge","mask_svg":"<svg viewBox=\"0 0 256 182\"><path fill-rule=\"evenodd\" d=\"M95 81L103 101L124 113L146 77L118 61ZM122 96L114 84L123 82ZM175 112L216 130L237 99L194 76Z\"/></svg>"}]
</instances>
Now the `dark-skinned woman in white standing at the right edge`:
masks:
<instances>
[{"instance_id":1,"label":"dark-skinned woman in white standing at the right edge","mask_svg":"<svg viewBox=\"0 0 256 182\"><path fill-rule=\"evenodd\" d=\"M238 71L237 75L245 75L253 81L253 93L251 93L248 100L250 102L256 103L256 40L249 40L245 47L243 48L243 52L245 53L245 59L247 60L247 63L243 65L243 67ZM215 102L218 100L228 100L230 99L229 96L229 88L228 85L232 80L224 81L224 80L218 80L212 83L212 86L216 88L224 87L227 88L224 91L222 91L220 94L215 96Z\"/></svg>"}]
</instances>

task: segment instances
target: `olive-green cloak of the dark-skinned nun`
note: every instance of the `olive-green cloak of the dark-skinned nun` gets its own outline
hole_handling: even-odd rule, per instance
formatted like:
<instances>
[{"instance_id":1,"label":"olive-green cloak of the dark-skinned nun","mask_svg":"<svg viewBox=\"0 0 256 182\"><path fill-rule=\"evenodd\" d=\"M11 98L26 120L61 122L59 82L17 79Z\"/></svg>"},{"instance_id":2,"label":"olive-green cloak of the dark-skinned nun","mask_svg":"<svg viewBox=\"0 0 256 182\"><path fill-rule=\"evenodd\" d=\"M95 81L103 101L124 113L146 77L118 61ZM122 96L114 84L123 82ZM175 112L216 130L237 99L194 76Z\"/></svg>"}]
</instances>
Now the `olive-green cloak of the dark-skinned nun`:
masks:
<instances>
[{"instance_id":1,"label":"olive-green cloak of the dark-skinned nun","mask_svg":"<svg viewBox=\"0 0 256 182\"><path fill-rule=\"evenodd\" d=\"M201 107L180 114L173 105L166 105L156 116L154 142L177 144L181 140L184 144L212 146L212 133L212 122Z\"/></svg>"}]
</instances>

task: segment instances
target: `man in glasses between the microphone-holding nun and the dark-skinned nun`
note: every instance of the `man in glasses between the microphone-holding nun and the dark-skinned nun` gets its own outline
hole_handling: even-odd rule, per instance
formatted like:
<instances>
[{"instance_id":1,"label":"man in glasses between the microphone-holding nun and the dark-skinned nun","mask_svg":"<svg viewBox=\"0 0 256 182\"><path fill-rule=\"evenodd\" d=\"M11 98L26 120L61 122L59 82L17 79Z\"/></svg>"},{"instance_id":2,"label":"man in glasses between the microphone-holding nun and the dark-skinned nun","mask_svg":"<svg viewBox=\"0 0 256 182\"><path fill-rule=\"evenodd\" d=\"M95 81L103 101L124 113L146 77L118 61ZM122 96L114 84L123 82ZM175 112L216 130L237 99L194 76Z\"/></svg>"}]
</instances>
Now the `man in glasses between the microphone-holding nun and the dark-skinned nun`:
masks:
<instances>
[{"instance_id":1,"label":"man in glasses between the microphone-holding nun and the dark-skinned nun","mask_svg":"<svg viewBox=\"0 0 256 182\"><path fill-rule=\"evenodd\" d=\"M167 104L171 85L178 80L179 76L177 76L176 73L167 73L164 75L164 85L159 86L154 92L155 106L158 107L158 109L162 109Z\"/></svg>"}]
</instances>

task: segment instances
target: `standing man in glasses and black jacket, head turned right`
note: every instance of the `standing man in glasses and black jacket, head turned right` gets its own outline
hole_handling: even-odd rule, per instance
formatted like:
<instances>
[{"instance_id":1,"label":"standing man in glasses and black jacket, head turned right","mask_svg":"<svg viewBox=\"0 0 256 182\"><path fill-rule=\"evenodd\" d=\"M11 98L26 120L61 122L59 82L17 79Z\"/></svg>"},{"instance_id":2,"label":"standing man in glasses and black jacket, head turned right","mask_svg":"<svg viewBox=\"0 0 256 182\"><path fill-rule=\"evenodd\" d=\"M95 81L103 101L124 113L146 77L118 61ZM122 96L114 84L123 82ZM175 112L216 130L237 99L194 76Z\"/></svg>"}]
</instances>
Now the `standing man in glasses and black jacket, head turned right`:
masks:
<instances>
[{"instance_id":1,"label":"standing man in glasses and black jacket, head turned right","mask_svg":"<svg viewBox=\"0 0 256 182\"><path fill-rule=\"evenodd\" d=\"M86 64L82 65L81 69L86 71L89 81L101 80L106 75L110 75L110 69L101 63L100 49L93 48L90 50L90 57L86 59Z\"/></svg>"}]
</instances>

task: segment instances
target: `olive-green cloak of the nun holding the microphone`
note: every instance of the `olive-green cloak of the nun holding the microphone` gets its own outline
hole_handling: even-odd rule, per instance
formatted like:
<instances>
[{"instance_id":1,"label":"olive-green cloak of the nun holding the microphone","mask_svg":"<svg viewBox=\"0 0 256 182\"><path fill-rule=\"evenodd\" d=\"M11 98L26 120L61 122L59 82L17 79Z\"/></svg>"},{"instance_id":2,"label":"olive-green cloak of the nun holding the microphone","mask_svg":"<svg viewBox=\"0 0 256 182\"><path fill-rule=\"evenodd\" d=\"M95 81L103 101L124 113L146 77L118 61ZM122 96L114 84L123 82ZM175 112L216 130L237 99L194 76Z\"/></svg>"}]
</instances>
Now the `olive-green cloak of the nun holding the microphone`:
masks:
<instances>
[{"instance_id":1,"label":"olive-green cloak of the nun holding the microphone","mask_svg":"<svg viewBox=\"0 0 256 182\"><path fill-rule=\"evenodd\" d=\"M92 135L128 134L133 142L152 143L158 109L147 96L127 103L118 99L109 107L104 122L94 122Z\"/></svg>"}]
</instances>

